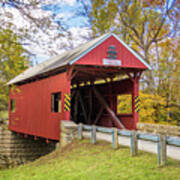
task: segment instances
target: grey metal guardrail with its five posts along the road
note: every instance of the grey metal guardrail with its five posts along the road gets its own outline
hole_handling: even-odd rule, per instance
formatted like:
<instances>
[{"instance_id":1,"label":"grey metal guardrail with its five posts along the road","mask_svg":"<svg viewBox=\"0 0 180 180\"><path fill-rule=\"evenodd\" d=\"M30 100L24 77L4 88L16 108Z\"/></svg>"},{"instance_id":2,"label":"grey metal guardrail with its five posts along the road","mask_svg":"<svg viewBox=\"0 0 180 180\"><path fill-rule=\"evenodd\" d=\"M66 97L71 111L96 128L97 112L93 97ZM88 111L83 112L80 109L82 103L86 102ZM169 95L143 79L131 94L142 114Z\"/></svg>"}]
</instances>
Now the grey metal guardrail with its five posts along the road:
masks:
<instances>
[{"instance_id":1,"label":"grey metal guardrail with its five posts along the road","mask_svg":"<svg viewBox=\"0 0 180 180\"><path fill-rule=\"evenodd\" d=\"M112 146L113 148L118 148L118 136L125 136L130 138L130 148L131 155L135 156L138 151L138 140L152 141L157 143L157 156L158 164L165 165L167 157L167 147L166 145L179 146L180 147L180 138L164 136L161 134L150 134L150 133L141 133L137 131L130 130L120 130L117 128L106 128L100 126L89 126L89 125L78 125L78 138L82 139L82 132L90 131L91 132L91 143L95 144L96 142L96 132L112 134Z\"/></svg>"}]
</instances>

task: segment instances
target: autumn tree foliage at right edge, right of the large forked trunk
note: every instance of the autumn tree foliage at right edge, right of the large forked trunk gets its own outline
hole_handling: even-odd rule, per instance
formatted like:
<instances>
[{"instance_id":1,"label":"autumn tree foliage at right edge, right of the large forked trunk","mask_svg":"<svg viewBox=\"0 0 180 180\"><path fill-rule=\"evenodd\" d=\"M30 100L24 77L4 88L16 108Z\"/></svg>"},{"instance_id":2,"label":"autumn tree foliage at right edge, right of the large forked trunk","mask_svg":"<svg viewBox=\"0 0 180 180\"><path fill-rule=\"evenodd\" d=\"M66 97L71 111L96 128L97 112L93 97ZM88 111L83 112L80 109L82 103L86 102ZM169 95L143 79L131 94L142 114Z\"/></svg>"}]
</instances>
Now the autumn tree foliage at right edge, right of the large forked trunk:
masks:
<instances>
[{"instance_id":1,"label":"autumn tree foliage at right edge, right of the large forked trunk","mask_svg":"<svg viewBox=\"0 0 180 180\"><path fill-rule=\"evenodd\" d=\"M157 94L165 98L168 121L175 121L180 125L180 44L179 38L167 38L156 45L152 52L156 58L158 68L155 70L157 78Z\"/></svg>"}]
</instances>

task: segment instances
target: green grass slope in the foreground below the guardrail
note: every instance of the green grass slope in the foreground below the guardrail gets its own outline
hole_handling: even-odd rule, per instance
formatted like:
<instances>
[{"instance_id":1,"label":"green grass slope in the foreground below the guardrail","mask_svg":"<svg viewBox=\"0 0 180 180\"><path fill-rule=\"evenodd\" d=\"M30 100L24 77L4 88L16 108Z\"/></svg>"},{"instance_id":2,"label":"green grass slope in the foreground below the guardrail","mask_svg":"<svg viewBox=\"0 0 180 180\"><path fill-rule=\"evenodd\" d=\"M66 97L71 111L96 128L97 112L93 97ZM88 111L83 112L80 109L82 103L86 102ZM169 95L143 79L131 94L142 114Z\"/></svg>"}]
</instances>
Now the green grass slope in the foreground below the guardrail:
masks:
<instances>
[{"instance_id":1,"label":"green grass slope in the foreground below the guardrail","mask_svg":"<svg viewBox=\"0 0 180 180\"><path fill-rule=\"evenodd\" d=\"M168 159L158 167L157 157L130 149L113 150L109 143L76 141L32 163L1 170L0 180L180 180L180 161Z\"/></svg>"}]
</instances>

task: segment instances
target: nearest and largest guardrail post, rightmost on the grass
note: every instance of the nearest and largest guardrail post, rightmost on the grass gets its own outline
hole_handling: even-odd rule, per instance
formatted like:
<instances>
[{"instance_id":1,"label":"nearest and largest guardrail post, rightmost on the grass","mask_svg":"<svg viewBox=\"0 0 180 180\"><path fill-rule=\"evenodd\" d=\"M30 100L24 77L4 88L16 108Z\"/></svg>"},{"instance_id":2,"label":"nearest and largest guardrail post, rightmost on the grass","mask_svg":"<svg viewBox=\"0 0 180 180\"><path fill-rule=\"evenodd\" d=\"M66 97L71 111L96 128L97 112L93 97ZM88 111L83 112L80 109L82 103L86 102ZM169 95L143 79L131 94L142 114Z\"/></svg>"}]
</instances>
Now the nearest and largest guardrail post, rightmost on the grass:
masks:
<instances>
[{"instance_id":1,"label":"nearest and largest guardrail post, rightmost on the grass","mask_svg":"<svg viewBox=\"0 0 180 180\"><path fill-rule=\"evenodd\" d=\"M158 150L158 164L159 166L166 165L166 136L164 135L158 135L159 141L157 144L157 150Z\"/></svg>"}]
</instances>

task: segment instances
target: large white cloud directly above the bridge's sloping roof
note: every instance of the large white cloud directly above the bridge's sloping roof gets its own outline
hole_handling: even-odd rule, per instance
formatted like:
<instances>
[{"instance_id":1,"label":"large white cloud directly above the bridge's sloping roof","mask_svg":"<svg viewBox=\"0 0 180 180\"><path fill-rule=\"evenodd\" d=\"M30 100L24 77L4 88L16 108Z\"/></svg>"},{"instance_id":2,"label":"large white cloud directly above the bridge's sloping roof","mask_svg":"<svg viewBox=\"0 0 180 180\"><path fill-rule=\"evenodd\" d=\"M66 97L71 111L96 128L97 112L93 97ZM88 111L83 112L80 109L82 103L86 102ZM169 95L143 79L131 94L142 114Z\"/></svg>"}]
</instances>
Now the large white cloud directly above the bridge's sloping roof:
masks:
<instances>
[{"instance_id":1,"label":"large white cloud directly above the bridge's sloping roof","mask_svg":"<svg viewBox=\"0 0 180 180\"><path fill-rule=\"evenodd\" d=\"M36 34L36 38L40 42L44 42L43 48L36 43L32 43L26 47L35 55L34 61L42 62L55 54L61 54L67 50L78 47L80 44L86 43L91 38L91 30L88 28L71 28L71 39L68 36L59 37L50 44L48 36ZM50 54L51 53L51 54Z\"/></svg>"}]
</instances>

